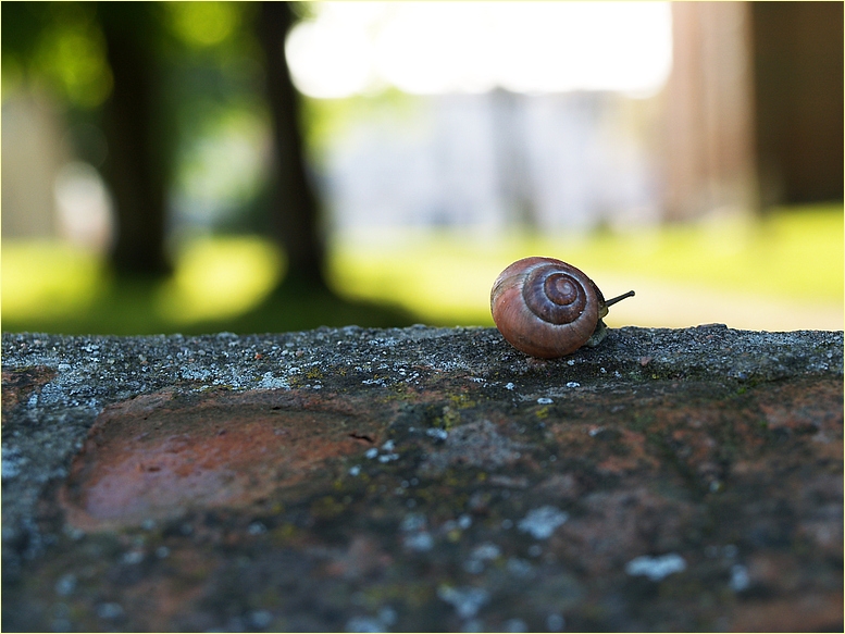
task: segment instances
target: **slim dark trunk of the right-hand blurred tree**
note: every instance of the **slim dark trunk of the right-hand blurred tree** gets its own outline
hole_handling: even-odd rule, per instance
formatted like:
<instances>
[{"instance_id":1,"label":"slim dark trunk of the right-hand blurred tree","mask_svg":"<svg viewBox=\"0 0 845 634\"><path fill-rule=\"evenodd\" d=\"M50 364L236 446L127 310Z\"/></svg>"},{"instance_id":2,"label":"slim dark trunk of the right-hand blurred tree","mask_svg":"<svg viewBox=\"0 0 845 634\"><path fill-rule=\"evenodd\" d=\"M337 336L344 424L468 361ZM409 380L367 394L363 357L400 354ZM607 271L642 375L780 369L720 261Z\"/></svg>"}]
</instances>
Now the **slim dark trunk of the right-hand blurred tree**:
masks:
<instances>
[{"instance_id":1,"label":"slim dark trunk of the right-hand blurred tree","mask_svg":"<svg viewBox=\"0 0 845 634\"><path fill-rule=\"evenodd\" d=\"M299 128L299 95L284 57L285 36L294 22L289 2L262 2L257 32L265 55L266 95L275 140L276 238L287 254L284 285L300 290L327 288L325 250L318 226L319 204L306 172Z\"/></svg>"}]
</instances>

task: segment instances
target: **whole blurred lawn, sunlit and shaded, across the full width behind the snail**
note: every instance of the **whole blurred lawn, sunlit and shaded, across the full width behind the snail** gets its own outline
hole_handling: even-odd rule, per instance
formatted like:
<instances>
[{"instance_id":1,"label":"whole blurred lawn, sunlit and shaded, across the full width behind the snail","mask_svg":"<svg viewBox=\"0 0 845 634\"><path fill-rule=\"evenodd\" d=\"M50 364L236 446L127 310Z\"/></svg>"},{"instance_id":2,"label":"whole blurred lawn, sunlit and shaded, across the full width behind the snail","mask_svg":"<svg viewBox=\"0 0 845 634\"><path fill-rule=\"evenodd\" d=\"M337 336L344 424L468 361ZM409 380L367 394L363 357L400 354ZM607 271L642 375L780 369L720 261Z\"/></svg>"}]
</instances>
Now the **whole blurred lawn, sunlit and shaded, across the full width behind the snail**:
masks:
<instances>
[{"instance_id":1,"label":"whole blurred lawn, sunlit and shaded, across the full width behind the snail","mask_svg":"<svg viewBox=\"0 0 845 634\"><path fill-rule=\"evenodd\" d=\"M842 328L841 207L594 235L336 236L330 277L339 299L272 293L284 277L284 257L257 237L186 244L175 274L161 282L115 279L100 258L66 244L7 240L2 328L188 334L414 322L490 325L493 281L510 262L532 254L579 266L607 296L637 289L636 298L614 307L610 325L693 325L713 314L729 325L736 320L737 327ZM751 316L738 316L736 307Z\"/></svg>"}]
</instances>

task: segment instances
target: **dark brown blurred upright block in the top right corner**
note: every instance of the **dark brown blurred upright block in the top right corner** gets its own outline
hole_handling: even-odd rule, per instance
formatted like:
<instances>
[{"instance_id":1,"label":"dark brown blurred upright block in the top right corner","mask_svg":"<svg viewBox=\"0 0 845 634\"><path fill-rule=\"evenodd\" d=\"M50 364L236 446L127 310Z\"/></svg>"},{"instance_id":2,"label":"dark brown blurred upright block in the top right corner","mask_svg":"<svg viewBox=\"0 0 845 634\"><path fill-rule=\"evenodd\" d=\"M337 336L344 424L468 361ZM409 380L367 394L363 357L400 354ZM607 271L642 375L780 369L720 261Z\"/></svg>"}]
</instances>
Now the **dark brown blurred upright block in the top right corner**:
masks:
<instances>
[{"instance_id":1,"label":"dark brown blurred upright block in the top right corner","mask_svg":"<svg viewBox=\"0 0 845 634\"><path fill-rule=\"evenodd\" d=\"M748 7L762 202L842 201L843 5Z\"/></svg>"}]
</instances>

